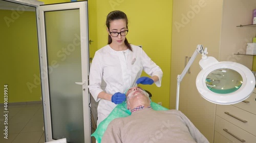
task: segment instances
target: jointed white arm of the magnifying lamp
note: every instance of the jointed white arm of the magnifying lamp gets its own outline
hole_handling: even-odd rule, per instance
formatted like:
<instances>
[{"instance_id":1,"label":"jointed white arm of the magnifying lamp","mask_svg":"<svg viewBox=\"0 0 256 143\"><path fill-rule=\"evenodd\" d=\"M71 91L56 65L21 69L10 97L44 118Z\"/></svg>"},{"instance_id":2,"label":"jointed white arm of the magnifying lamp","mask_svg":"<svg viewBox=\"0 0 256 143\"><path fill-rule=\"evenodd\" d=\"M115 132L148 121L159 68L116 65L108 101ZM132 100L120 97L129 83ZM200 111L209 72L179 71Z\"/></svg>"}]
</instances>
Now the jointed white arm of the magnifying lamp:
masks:
<instances>
[{"instance_id":1,"label":"jointed white arm of the magnifying lamp","mask_svg":"<svg viewBox=\"0 0 256 143\"><path fill-rule=\"evenodd\" d=\"M197 55L199 53L201 53L202 56L206 56L207 49L205 48L205 51L204 51L202 45L197 45L197 48L196 48L195 52L193 53L193 55L191 56L190 60L188 61L186 67L184 68L182 73L177 76L176 110L179 110L180 82L182 81L186 72L188 71L190 66L193 64L193 62L195 61L195 59L197 58Z\"/></svg>"}]
</instances>

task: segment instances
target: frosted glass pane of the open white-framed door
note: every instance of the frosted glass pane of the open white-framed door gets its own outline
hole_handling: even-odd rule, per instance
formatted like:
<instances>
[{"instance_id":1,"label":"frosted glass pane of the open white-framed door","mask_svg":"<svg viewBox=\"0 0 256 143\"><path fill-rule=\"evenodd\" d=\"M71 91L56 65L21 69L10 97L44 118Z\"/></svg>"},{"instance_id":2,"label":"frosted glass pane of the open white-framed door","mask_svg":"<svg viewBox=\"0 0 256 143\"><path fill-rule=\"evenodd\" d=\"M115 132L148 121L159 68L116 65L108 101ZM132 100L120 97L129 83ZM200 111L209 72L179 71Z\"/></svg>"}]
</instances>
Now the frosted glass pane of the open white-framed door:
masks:
<instances>
[{"instance_id":1,"label":"frosted glass pane of the open white-framed door","mask_svg":"<svg viewBox=\"0 0 256 143\"><path fill-rule=\"evenodd\" d=\"M79 9L45 12L52 138L83 142Z\"/></svg>"}]
</instances>

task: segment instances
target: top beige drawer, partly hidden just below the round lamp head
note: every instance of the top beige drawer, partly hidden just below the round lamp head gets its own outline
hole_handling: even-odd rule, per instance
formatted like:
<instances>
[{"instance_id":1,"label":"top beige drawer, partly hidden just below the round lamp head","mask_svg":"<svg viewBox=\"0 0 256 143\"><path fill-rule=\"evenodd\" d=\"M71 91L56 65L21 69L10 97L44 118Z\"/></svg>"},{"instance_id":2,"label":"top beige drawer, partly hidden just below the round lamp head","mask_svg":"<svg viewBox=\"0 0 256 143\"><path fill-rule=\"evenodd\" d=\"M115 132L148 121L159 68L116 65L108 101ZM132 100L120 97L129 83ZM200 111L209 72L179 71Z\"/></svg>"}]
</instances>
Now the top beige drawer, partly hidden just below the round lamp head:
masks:
<instances>
[{"instance_id":1,"label":"top beige drawer, partly hidden just below the round lamp head","mask_svg":"<svg viewBox=\"0 0 256 143\"><path fill-rule=\"evenodd\" d=\"M256 93L252 93L250 97L245 99L245 102L239 102L237 104L233 104L233 106L239 107L241 109L244 109L248 112L254 113L256 115Z\"/></svg>"}]
</instances>

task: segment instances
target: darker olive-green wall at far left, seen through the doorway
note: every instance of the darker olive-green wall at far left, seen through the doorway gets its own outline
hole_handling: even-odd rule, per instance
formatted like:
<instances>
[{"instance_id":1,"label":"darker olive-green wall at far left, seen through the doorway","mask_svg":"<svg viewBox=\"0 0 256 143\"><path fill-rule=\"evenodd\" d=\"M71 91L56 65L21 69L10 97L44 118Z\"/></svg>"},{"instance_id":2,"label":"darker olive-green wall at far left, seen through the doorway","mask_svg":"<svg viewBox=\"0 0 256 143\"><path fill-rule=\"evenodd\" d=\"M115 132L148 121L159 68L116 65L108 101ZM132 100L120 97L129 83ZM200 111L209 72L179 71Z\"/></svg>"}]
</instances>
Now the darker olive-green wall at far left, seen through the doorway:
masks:
<instances>
[{"instance_id":1,"label":"darker olive-green wall at far left, seen through the doorway","mask_svg":"<svg viewBox=\"0 0 256 143\"><path fill-rule=\"evenodd\" d=\"M8 84L9 103L40 101L35 21L35 12L0 10L1 91L4 90L4 84ZM0 103L3 102L4 98L0 98Z\"/></svg>"}]
</instances>

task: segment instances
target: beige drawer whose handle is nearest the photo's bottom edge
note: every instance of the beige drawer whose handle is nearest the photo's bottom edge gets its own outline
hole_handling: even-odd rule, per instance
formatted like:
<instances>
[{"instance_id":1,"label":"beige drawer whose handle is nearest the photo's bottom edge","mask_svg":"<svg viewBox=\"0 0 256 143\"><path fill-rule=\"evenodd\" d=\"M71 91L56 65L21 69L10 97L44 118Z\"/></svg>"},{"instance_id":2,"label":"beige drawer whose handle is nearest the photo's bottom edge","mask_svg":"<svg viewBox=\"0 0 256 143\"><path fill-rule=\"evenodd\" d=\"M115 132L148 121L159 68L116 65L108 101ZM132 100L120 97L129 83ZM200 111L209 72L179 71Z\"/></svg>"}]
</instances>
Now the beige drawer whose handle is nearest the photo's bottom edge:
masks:
<instances>
[{"instance_id":1,"label":"beige drawer whose handle is nearest the photo's bottom edge","mask_svg":"<svg viewBox=\"0 0 256 143\"><path fill-rule=\"evenodd\" d=\"M226 129L229 133L224 131L224 129ZM217 131L218 133L220 133L221 135L223 135L228 140L234 143L241 143L242 140L245 140L246 143L255 143L256 140L256 136L246 132L245 130L227 122L226 120L218 116L216 116L215 120L215 131ZM236 136L237 138L234 136Z\"/></svg>"}]
</instances>

